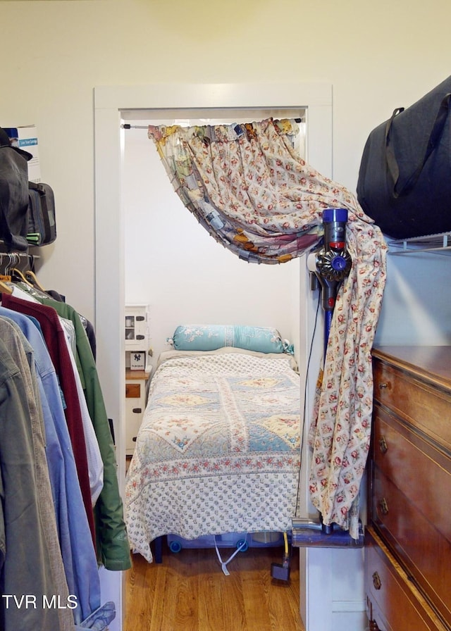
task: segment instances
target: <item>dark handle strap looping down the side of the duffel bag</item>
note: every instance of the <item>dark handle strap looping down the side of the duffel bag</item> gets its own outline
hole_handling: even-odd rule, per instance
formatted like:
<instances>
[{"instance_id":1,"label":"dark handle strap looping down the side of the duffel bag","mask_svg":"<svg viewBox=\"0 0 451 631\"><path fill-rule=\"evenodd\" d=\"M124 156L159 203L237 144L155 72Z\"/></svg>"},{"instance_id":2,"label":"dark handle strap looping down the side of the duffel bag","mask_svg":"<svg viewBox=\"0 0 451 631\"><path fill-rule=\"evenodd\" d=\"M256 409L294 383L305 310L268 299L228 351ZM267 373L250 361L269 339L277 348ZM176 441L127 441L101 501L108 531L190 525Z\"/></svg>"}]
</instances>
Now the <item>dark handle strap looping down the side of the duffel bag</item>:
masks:
<instances>
[{"instance_id":1,"label":"dark handle strap looping down the side of the duffel bag","mask_svg":"<svg viewBox=\"0 0 451 631\"><path fill-rule=\"evenodd\" d=\"M395 156L395 151L393 149L393 145L390 144L390 131L392 129L393 120L395 117L404 111L403 107L398 107L393 111L391 118L387 121L387 125L385 126L385 157L387 160L388 170L390 171L390 175L393 179L393 197L395 199L400 195L407 195L410 191L412 191L413 187L416 185L416 180L418 180L421 170L423 170L424 165L428 157L431 155L435 146L440 142L440 137L443 132L443 127L445 127L445 122L447 119L447 115L450 111L450 101L451 101L451 93L448 92L443 97L440 107L438 108L437 115L435 116L435 121L433 123L433 127L431 130L431 135L429 136L428 144L426 145L426 151L424 153L423 158L419 161L418 166L416 167L414 173L409 180L405 183L401 190L397 189L397 182L400 177L400 169L397 165L397 160Z\"/></svg>"}]
</instances>

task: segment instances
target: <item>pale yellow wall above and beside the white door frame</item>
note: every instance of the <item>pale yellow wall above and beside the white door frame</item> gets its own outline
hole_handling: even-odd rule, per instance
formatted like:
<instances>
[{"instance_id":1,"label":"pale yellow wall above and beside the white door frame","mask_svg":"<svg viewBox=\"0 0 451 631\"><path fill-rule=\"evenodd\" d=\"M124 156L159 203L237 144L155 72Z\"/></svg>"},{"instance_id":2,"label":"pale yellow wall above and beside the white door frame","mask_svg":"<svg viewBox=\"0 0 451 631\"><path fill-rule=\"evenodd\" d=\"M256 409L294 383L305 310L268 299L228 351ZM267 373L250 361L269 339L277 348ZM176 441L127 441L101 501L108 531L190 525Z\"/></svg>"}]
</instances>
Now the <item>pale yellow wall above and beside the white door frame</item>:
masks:
<instances>
[{"instance_id":1,"label":"pale yellow wall above and beside the white door frame","mask_svg":"<svg viewBox=\"0 0 451 631\"><path fill-rule=\"evenodd\" d=\"M450 74L450 23L449 0L0 0L0 125L37 125L56 194L43 284L92 317L94 86L328 82L354 190L369 131Z\"/></svg>"}]
</instances>

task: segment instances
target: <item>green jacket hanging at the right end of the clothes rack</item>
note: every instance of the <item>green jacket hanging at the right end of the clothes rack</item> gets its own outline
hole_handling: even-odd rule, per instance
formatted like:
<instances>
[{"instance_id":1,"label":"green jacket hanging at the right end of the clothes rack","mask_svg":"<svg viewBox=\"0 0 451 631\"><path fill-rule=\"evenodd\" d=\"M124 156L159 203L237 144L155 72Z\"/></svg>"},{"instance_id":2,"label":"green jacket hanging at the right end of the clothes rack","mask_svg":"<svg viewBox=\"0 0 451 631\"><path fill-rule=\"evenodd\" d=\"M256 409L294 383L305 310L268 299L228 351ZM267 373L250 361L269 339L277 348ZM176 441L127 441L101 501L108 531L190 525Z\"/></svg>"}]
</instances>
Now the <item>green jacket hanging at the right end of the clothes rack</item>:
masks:
<instances>
[{"instance_id":1,"label":"green jacket hanging at the right end of the clothes rack","mask_svg":"<svg viewBox=\"0 0 451 631\"><path fill-rule=\"evenodd\" d=\"M116 452L108 416L101 392L99 376L91 346L80 315L65 302L35 296L42 304L51 306L58 315L72 320L75 326L77 356L75 360L85 392L89 416L99 442L104 463L104 487L94 506L96 526L97 561L107 570L128 570L131 567L130 544L123 515L123 503L119 494Z\"/></svg>"}]
</instances>

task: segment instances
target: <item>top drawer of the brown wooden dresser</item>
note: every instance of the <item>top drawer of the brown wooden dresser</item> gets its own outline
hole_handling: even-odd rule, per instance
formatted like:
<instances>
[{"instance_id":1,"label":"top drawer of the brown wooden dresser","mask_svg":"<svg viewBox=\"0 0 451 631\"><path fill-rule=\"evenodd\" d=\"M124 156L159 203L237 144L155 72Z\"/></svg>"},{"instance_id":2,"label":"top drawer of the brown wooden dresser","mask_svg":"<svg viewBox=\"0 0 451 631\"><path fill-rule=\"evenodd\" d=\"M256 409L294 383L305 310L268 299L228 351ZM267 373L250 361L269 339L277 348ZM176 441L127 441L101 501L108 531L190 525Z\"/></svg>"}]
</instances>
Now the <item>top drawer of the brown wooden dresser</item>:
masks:
<instances>
[{"instance_id":1,"label":"top drawer of the brown wooden dresser","mask_svg":"<svg viewBox=\"0 0 451 631\"><path fill-rule=\"evenodd\" d=\"M449 390L373 358L374 398L451 453Z\"/></svg>"}]
</instances>

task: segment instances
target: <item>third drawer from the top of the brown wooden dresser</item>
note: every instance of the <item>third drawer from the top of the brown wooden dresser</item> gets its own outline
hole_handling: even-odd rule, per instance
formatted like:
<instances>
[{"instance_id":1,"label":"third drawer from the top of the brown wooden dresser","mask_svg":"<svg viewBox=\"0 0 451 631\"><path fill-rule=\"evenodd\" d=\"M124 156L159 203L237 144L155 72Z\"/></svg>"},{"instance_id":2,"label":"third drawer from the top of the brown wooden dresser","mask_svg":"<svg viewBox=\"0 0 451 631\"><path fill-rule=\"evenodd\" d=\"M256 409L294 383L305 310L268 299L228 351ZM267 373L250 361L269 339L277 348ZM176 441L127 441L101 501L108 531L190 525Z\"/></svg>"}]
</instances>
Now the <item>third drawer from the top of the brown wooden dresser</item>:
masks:
<instances>
[{"instance_id":1,"label":"third drawer from the top of the brown wooden dresser","mask_svg":"<svg viewBox=\"0 0 451 631\"><path fill-rule=\"evenodd\" d=\"M372 484L372 523L451 625L450 542L377 466Z\"/></svg>"}]
</instances>

